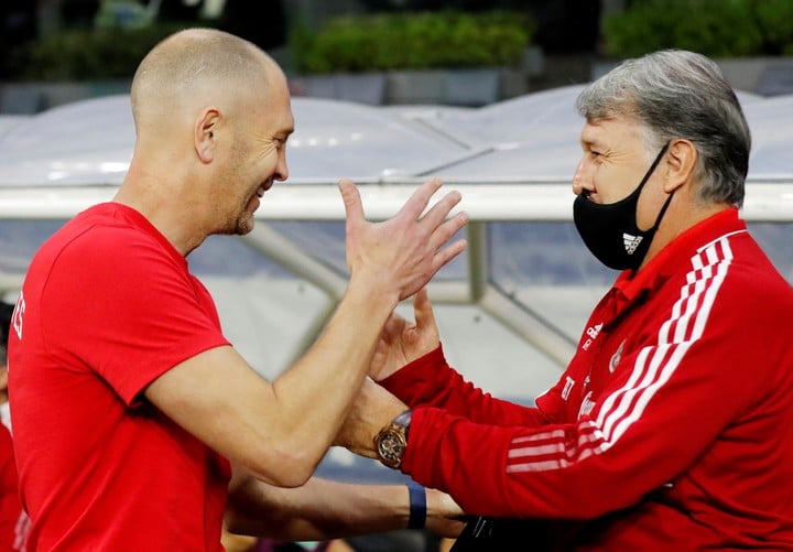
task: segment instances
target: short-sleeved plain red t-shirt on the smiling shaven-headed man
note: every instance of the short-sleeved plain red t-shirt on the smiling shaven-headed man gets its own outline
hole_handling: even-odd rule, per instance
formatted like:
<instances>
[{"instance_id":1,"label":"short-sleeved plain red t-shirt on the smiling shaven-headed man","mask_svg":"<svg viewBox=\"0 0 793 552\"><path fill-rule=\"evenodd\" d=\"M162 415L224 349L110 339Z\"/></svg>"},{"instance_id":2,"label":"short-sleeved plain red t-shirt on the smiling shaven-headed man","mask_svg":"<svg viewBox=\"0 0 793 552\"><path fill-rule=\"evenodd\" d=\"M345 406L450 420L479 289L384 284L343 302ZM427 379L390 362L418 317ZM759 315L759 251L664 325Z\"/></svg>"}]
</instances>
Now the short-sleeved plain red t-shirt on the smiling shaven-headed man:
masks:
<instances>
[{"instance_id":1,"label":"short-sleeved plain red t-shirt on the smiling shaven-headed man","mask_svg":"<svg viewBox=\"0 0 793 552\"><path fill-rule=\"evenodd\" d=\"M42 246L9 343L31 550L222 550L228 462L142 394L222 345L209 293L138 212L95 206Z\"/></svg>"}]
</instances>

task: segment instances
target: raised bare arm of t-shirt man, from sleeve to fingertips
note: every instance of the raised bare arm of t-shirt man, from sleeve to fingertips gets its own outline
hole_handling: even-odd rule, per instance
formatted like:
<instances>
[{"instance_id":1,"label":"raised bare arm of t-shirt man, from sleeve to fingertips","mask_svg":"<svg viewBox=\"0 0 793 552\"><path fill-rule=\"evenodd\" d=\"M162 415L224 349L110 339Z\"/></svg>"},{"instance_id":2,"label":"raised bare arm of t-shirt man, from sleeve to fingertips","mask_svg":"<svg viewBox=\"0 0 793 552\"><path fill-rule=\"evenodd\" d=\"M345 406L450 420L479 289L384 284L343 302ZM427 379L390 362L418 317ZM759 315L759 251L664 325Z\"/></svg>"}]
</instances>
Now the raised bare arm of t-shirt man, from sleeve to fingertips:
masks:
<instances>
[{"instance_id":1,"label":"raised bare arm of t-shirt man, from sleeve to fingertips","mask_svg":"<svg viewBox=\"0 0 793 552\"><path fill-rule=\"evenodd\" d=\"M350 282L316 344L275 381L257 375L231 347L218 347L157 378L146 398L260 479L304 484L358 393L397 303L465 249L463 240L444 247L467 223L465 214L446 218L459 194L447 194L422 216L439 186L425 183L393 218L372 224L355 185L340 183Z\"/></svg>"}]
</instances>

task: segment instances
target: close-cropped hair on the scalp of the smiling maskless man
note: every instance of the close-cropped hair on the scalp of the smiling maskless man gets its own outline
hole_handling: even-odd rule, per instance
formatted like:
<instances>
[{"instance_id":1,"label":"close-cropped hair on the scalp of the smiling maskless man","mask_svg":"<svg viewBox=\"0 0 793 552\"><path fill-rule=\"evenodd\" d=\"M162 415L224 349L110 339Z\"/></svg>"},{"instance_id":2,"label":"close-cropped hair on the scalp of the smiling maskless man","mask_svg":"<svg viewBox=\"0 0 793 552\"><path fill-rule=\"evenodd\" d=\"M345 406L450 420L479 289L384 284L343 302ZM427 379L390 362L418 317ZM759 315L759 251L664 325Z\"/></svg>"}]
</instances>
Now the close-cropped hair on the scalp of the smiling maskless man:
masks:
<instances>
[{"instance_id":1,"label":"close-cropped hair on the scalp of the smiling maskless man","mask_svg":"<svg viewBox=\"0 0 793 552\"><path fill-rule=\"evenodd\" d=\"M180 113L192 117L207 104L231 115L253 94L267 96L278 64L258 46L214 29L188 29L157 44L141 62L132 80L132 115L138 133ZM240 105L242 104L242 105Z\"/></svg>"}]
</instances>

